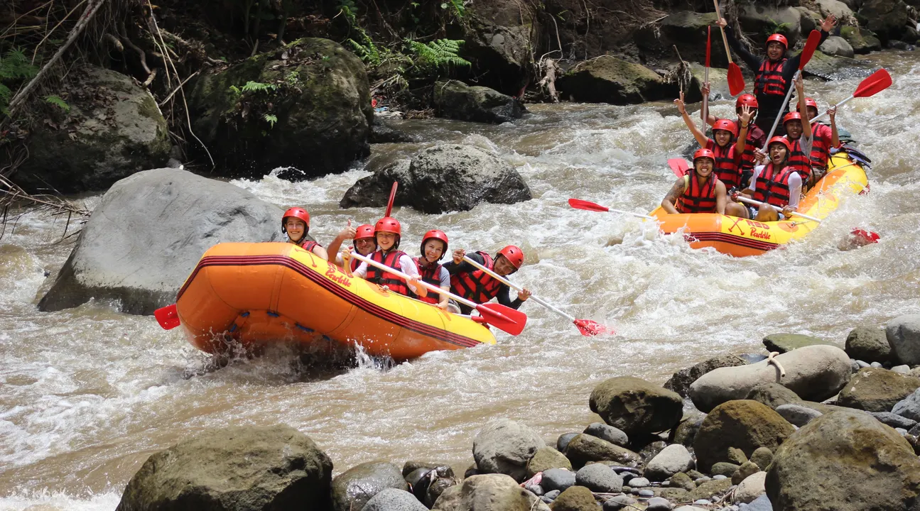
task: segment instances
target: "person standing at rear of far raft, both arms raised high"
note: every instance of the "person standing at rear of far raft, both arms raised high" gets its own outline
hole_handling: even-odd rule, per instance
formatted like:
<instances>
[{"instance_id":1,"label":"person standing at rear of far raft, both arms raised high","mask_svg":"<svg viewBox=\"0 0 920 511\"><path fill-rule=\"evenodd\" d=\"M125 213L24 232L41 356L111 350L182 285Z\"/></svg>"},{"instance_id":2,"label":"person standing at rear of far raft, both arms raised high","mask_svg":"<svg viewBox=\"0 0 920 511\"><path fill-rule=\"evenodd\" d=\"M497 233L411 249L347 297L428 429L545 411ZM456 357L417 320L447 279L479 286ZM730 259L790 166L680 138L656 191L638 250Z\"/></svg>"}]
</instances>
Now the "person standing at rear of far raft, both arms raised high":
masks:
<instances>
[{"instance_id":1,"label":"person standing at rear of far raft, both arms raised high","mask_svg":"<svg viewBox=\"0 0 920 511\"><path fill-rule=\"evenodd\" d=\"M833 14L824 18L821 23L821 42L827 39L836 24L837 17ZM768 131L773 128L774 121L780 115L779 109L782 108L786 93L792 85L792 75L799 69L801 53L787 58L788 40L782 34L773 34L766 38L766 60L762 61L735 39L724 17L719 18L719 27L725 29L725 36L732 50L738 53L742 61L754 72L753 95L760 106L760 115L757 116L756 123L762 130Z\"/></svg>"}]
</instances>

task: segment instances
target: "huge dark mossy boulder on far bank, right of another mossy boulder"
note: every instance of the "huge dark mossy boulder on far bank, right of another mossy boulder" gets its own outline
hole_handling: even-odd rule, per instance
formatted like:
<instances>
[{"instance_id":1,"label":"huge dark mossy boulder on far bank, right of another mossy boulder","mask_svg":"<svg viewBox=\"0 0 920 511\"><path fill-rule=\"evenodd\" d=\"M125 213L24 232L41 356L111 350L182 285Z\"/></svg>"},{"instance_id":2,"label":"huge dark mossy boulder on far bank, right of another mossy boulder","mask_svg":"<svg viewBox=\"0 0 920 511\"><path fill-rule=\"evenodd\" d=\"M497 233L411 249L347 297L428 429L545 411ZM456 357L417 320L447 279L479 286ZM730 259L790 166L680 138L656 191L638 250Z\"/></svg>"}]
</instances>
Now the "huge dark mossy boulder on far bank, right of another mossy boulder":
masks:
<instances>
[{"instance_id":1,"label":"huge dark mossy boulder on far bank, right of another mossy boulder","mask_svg":"<svg viewBox=\"0 0 920 511\"><path fill-rule=\"evenodd\" d=\"M290 166L299 172L285 177L305 179L344 172L370 153L367 74L337 42L295 40L203 73L186 90L195 134L229 175ZM192 149L208 161L204 148Z\"/></svg>"}]
</instances>

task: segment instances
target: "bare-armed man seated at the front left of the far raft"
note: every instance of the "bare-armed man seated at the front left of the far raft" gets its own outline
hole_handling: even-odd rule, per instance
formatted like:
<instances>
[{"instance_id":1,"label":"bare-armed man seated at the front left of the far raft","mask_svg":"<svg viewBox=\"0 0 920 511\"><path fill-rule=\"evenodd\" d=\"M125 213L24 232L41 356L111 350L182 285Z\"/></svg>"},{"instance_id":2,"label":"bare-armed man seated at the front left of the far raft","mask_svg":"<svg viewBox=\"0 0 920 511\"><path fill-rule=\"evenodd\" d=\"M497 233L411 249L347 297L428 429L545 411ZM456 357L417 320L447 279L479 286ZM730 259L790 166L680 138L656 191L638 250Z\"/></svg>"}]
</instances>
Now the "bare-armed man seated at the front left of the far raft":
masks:
<instances>
[{"instance_id":1,"label":"bare-armed man seated at the front left of the far raft","mask_svg":"<svg viewBox=\"0 0 920 511\"><path fill-rule=\"evenodd\" d=\"M744 207L728 202L725 183L715 176L716 155L709 149L697 149L693 155L694 171L677 178L661 209L671 213L719 213L741 216Z\"/></svg>"}]
</instances>

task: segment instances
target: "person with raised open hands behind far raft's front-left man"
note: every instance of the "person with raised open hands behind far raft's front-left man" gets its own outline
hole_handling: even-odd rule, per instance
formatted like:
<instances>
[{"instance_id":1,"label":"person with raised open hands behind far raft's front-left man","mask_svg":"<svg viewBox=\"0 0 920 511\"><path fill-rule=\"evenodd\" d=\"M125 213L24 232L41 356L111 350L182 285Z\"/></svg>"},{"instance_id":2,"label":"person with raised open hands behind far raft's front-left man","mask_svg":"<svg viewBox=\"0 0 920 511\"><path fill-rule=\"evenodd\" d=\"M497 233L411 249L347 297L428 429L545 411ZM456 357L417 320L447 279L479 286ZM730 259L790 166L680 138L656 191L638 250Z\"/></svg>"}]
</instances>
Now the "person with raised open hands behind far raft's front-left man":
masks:
<instances>
[{"instance_id":1,"label":"person with raised open hands behind far raft's front-left man","mask_svg":"<svg viewBox=\"0 0 920 511\"><path fill-rule=\"evenodd\" d=\"M677 111L681 113L684 122L690 132L693 133L696 142L703 149L708 149L714 154L716 167L715 173L719 181L725 184L725 187L740 188L742 185L742 154L747 144L747 131L751 124L753 113L750 107L742 107L741 125L742 132L739 134L738 127L729 119L718 119L712 125L712 138L707 139L706 134L700 130L696 123L687 115L686 106L684 105L684 93L681 97L674 99L674 105L677 105ZM737 141L735 138L737 136ZM697 152L698 153L698 152ZM696 160L696 156L694 156ZM719 211L722 213L722 211Z\"/></svg>"}]
</instances>

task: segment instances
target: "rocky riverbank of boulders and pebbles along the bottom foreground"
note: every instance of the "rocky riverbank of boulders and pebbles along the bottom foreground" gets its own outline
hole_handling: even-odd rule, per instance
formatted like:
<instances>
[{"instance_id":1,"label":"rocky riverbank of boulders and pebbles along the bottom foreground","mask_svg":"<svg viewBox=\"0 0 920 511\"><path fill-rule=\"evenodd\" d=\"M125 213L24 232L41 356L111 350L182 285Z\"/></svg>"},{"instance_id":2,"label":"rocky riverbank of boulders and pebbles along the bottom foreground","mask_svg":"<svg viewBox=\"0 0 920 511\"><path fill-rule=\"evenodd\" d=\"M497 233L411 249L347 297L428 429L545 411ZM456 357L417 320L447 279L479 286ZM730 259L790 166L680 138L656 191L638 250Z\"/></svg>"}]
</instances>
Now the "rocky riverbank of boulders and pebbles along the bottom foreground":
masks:
<instances>
[{"instance_id":1,"label":"rocky riverbank of boulders and pebbles along the bottom foreground","mask_svg":"<svg viewBox=\"0 0 920 511\"><path fill-rule=\"evenodd\" d=\"M334 462L289 426L234 426L152 455L118 509L910 511L920 503L920 314L845 342L767 335L660 387L604 380L603 422L546 441L493 419L462 474L445 463ZM704 410L706 413L704 413Z\"/></svg>"}]
</instances>

